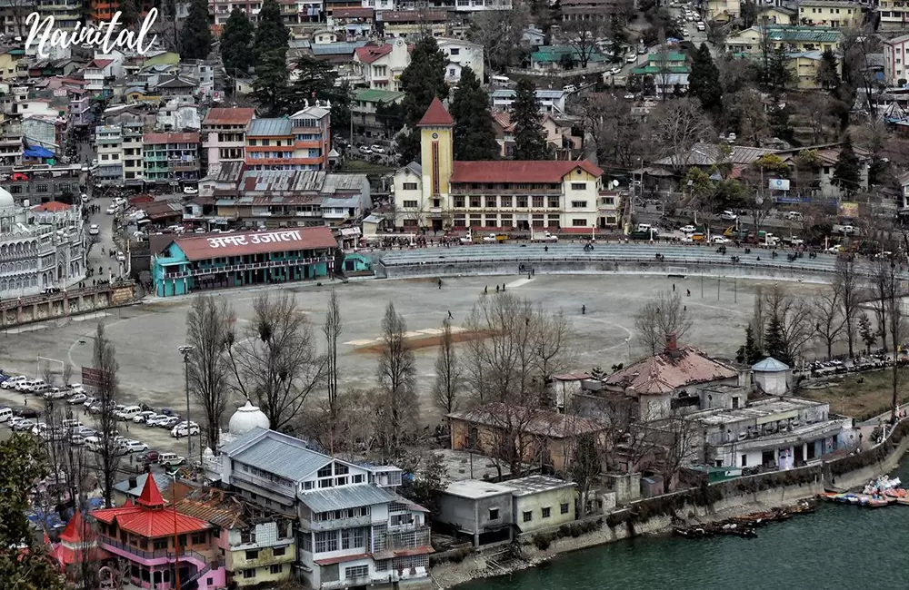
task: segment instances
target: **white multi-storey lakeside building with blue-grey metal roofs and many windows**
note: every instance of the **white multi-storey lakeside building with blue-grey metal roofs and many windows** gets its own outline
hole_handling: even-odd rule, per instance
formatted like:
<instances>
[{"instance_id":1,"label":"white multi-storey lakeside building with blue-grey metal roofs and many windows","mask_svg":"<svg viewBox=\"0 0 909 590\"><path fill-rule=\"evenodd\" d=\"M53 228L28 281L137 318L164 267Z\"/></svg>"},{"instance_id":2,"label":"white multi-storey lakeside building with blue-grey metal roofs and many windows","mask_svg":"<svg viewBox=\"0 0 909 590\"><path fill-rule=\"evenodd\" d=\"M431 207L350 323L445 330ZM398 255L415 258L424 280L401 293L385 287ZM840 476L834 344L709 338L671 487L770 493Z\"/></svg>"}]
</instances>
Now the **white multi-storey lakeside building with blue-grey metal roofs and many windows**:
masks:
<instances>
[{"instance_id":1,"label":"white multi-storey lakeside building with blue-grey metal roofs and many windows","mask_svg":"<svg viewBox=\"0 0 909 590\"><path fill-rule=\"evenodd\" d=\"M425 508L395 494L397 467L363 467L254 428L206 464L240 496L297 519L297 563L316 589L431 587Z\"/></svg>"}]
</instances>

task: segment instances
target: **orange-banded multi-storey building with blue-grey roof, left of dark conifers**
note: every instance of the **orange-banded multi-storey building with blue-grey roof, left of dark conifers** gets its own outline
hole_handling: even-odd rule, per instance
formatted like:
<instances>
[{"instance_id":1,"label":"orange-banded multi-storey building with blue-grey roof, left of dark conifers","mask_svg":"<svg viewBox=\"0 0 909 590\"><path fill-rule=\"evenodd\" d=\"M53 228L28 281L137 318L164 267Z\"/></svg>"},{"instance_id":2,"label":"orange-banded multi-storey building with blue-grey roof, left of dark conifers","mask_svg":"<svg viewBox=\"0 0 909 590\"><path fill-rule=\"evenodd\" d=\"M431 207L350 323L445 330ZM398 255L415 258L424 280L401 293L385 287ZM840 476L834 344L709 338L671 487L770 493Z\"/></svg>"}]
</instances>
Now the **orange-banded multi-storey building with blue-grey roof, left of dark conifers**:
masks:
<instances>
[{"instance_id":1,"label":"orange-banded multi-storey building with blue-grey roof, left of dark conifers","mask_svg":"<svg viewBox=\"0 0 909 590\"><path fill-rule=\"evenodd\" d=\"M250 170L325 170L331 144L328 109L307 106L290 118L253 119L245 162Z\"/></svg>"}]
</instances>

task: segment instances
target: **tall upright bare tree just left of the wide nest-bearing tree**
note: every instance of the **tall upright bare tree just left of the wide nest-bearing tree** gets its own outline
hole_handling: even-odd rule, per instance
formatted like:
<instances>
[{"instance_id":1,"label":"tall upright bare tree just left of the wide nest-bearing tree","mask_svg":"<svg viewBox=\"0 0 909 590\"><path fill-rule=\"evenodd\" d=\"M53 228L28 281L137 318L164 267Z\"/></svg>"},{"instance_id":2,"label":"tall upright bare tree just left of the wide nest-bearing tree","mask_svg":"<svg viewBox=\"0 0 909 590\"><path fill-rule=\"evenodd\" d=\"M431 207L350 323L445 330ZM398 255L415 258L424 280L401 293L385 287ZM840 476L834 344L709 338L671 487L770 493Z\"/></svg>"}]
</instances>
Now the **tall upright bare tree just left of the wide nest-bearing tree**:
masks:
<instances>
[{"instance_id":1,"label":"tall upright bare tree just left of the wide nest-bearing tree","mask_svg":"<svg viewBox=\"0 0 909 590\"><path fill-rule=\"evenodd\" d=\"M234 329L234 310L224 298L200 295L186 313L186 341L193 346L187 371L189 390L205 413L206 445L217 449L221 418L227 407L230 361L227 347Z\"/></svg>"}]
</instances>

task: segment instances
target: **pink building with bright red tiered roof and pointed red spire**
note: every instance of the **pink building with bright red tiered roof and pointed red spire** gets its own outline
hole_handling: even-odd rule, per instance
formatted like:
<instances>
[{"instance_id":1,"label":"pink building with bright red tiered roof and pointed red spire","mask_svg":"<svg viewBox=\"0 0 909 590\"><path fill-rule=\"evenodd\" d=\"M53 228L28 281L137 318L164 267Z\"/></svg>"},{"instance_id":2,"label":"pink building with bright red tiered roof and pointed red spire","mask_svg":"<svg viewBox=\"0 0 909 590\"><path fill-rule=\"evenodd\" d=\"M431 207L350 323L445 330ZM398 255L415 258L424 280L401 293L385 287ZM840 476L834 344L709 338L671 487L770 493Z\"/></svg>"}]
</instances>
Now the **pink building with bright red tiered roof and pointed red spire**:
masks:
<instances>
[{"instance_id":1,"label":"pink building with bright red tiered roof and pointed red spire","mask_svg":"<svg viewBox=\"0 0 909 590\"><path fill-rule=\"evenodd\" d=\"M129 562L126 581L142 588L225 586L223 557L213 544L212 526L166 507L154 477L145 479L135 505L95 510L97 542L111 556ZM74 517L75 519L75 517ZM63 538L61 537L61 541Z\"/></svg>"}]
</instances>

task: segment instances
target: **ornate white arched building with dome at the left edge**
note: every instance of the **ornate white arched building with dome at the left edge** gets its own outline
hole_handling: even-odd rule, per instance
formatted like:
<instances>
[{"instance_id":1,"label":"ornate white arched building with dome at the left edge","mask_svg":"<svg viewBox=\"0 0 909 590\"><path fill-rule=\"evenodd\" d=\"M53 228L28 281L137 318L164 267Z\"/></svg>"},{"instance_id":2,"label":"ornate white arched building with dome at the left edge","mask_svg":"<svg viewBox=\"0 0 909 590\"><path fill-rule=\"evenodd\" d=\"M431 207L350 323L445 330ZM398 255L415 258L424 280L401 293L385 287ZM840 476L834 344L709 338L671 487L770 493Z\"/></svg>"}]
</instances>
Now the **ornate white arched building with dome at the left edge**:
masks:
<instances>
[{"instance_id":1,"label":"ornate white arched building with dome at the left edge","mask_svg":"<svg viewBox=\"0 0 909 590\"><path fill-rule=\"evenodd\" d=\"M85 278L85 233L78 206L28 209L0 189L0 299L35 295Z\"/></svg>"}]
</instances>

